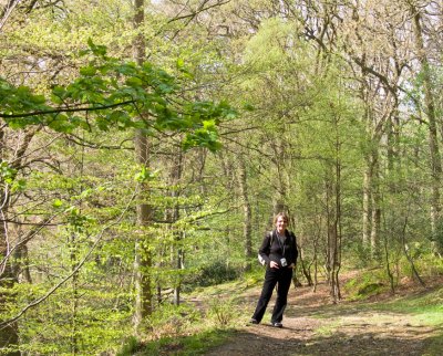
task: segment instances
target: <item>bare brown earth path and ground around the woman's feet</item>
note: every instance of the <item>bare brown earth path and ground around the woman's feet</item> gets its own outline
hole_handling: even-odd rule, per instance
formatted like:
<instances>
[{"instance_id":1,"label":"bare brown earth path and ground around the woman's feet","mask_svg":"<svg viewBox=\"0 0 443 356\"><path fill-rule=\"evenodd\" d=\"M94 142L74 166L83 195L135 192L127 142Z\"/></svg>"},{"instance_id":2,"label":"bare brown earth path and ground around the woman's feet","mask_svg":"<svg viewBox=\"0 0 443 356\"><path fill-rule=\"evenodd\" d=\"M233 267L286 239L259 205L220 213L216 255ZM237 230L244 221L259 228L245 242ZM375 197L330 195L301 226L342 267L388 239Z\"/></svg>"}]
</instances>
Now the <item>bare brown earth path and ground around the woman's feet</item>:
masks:
<instances>
[{"instance_id":1,"label":"bare brown earth path and ground around the woman's feet","mask_svg":"<svg viewBox=\"0 0 443 356\"><path fill-rule=\"evenodd\" d=\"M443 355L441 320L430 323L426 314L389 306L403 299L422 299L432 291L440 291L440 296L442 283L434 280L426 290L405 283L393 296L384 293L364 302L344 299L338 304L331 303L326 284L316 292L309 286L291 289L284 328L271 327L266 314L261 324L239 325L225 344L205 355ZM254 310L259 292L245 291L245 311ZM274 301L272 296L268 310Z\"/></svg>"}]
</instances>

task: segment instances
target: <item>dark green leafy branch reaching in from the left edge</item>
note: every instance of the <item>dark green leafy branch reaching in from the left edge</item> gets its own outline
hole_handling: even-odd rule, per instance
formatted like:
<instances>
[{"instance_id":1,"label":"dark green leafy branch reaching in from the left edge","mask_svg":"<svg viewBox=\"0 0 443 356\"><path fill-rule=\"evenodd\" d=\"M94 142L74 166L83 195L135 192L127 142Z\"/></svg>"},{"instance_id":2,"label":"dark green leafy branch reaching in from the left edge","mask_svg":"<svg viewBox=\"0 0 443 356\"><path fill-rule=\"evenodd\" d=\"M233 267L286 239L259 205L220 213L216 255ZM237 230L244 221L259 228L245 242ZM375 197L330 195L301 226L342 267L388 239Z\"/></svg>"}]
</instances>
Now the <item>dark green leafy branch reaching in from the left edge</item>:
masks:
<instances>
[{"instance_id":1,"label":"dark green leafy branch reaching in from the left edge","mask_svg":"<svg viewBox=\"0 0 443 356\"><path fill-rule=\"evenodd\" d=\"M0 117L12 128L44 125L55 132L76 128L107 132L138 128L153 134L185 133L184 148L220 147L216 126L233 118L235 111L225 102L177 101L178 80L150 62L136 65L107 55L106 48L89 41L89 64L72 83L52 88L51 98L33 94L27 86L14 87L0 78ZM90 113L90 115L79 115Z\"/></svg>"}]
</instances>

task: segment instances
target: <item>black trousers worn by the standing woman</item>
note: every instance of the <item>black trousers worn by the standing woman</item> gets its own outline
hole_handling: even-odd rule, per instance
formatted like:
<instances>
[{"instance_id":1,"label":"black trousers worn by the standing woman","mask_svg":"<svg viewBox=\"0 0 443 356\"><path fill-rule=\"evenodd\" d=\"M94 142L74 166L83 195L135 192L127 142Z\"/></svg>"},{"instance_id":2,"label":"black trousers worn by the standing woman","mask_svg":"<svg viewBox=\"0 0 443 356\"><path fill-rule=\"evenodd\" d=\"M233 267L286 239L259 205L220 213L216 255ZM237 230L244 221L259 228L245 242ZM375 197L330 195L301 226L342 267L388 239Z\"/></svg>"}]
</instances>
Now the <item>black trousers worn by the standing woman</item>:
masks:
<instances>
[{"instance_id":1,"label":"black trousers worn by the standing woman","mask_svg":"<svg viewBox=\"0 0 443 356\"><path fill-rule=\"evenodd\" d=\"M280 269L266 269L265 282L261 289L261 295L258 300L256 311L254 312L253 318L257 322L261 322L266 307L272 296L272 291L277 285L277 301L274 305L271 323L281 323L284 318L284 312L288 302L288 291L292 281L292 269L280 268Z\"/></svg>"}]
</instances>

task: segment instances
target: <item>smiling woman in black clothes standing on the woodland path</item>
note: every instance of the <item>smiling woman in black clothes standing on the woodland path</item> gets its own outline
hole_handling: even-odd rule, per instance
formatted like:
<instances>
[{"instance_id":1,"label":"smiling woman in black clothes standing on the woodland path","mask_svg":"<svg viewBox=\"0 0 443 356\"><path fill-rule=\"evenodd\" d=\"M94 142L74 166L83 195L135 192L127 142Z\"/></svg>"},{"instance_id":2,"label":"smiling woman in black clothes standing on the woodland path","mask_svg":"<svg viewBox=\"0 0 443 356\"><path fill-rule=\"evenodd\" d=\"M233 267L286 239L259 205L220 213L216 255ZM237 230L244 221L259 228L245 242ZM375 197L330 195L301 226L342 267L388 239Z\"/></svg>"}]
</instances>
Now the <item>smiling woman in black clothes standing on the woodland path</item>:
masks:
<instances>
[{"instance_id":1,"label":"smiling woman in black clothes standing on the woodland path","mask_svg":"<svg viewBox=\"0 0 443 356\"><path fill-rule=\"evenodd\" d=\"M259 259L266 264L265 282L250 324L258 324L265 315L266 307L277 285L277 301L274 306L270 323L282 327L281 321L288 300L288 291L292 281L292 269L297 262L297 243L295 234L287 230L288 216L280 212L274 219L275 229L267 233L260 249Z\"/></svg>"}]
</instances>

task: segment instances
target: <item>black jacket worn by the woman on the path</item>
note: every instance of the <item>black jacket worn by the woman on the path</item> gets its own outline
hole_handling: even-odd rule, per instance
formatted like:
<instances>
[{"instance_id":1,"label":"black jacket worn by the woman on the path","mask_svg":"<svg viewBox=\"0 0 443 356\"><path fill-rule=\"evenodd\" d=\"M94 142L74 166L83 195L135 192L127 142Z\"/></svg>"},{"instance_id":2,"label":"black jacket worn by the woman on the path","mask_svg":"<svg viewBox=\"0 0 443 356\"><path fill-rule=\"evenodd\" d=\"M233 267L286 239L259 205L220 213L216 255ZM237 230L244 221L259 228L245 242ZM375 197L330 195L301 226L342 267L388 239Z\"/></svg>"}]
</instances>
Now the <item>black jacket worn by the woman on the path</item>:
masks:
<instances>
[{"instance_id":1,"label":"black jacket worn by the woman on the path","mask_svg":"<svg viewBox=\"0 0 443 356\"><path fill-rule=\"evenodd\" d=\"M274 261L281 266L280 260L282 258L288 262L288 266L297 262L298 250L296 235L289 230L285 231L285 243L281 243L277 237L276 230L266 233L261 247L258 250L259 260L262 264L269 265L270 261Z\"/></svg>"}]
</instances>

